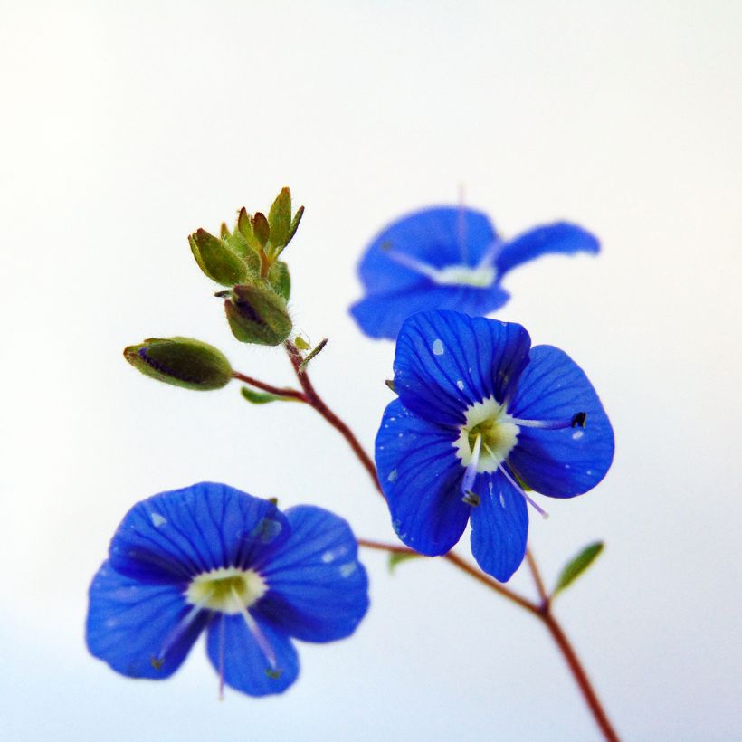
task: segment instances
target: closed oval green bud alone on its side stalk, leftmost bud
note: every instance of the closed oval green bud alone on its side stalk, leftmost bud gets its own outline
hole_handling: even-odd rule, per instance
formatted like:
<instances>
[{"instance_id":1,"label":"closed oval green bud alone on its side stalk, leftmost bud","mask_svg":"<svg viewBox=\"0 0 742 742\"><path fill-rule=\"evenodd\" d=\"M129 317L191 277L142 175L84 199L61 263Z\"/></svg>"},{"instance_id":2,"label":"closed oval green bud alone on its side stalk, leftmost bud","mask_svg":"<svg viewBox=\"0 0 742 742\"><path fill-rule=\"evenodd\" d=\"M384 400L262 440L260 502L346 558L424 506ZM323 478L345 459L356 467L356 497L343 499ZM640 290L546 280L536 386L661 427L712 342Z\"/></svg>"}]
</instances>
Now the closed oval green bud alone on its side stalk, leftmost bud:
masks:
<instances>
[{"instance_id":1,"label":"closed oval green bud alone on its side stalk, leftmost bud","mask_svg":"<svg viewBox=\"0 0 742 742\"><path fill-rule=\"evenodd\" d=\"M232 380L224 354L193 338L149 338L124 348L124 357L142 374L185 389L221 389Z\"/></svg>"}]
</instances>

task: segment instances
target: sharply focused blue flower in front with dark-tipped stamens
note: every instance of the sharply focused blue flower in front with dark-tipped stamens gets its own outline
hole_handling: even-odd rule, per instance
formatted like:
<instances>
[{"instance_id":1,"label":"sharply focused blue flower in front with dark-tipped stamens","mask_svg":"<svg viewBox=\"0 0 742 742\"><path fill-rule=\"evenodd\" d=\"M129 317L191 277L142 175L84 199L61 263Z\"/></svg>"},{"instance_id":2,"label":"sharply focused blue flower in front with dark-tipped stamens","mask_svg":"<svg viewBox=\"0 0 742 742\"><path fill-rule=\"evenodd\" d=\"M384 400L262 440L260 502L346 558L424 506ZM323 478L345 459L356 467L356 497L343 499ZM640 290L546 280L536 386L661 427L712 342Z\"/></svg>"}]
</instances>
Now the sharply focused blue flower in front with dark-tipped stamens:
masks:
<instances>
[{"instance_id":1,"label":"sharply focused blue flower in front with dark-tipped stamens","mask_svg":"<svg viewBox=\"0 0 742 742\"><path fill-rule=\"evenodd\" d=\"M445 554L471 517L471 553L504 582L526 551L526 489L571 498L604 478L614 433L595 389L563 351L520 325L452 311L407 319L376 466L395 532Z\"/></svg>"}]
</instances>

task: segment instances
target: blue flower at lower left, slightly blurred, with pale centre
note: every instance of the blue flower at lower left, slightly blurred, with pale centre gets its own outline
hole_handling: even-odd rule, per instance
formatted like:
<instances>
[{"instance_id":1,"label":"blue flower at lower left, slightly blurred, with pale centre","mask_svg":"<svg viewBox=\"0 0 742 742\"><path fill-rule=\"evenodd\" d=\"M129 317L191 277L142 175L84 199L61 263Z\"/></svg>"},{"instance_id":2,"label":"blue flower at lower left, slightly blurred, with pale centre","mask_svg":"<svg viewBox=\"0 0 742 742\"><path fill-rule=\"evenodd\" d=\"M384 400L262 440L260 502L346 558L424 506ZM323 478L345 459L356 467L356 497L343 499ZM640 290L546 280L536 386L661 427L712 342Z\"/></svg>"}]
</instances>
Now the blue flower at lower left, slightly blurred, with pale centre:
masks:
<instances>
[{"instance_id":1,"label":"blue flower at lower left, slightly blurred, with pale centre","mask_svg":"<svg viewBox=\"0 0 742 742\"><path fill-rule=\"evenodd\" d=\"M291 637L331 642L368 607L345 520L204 482L128 511L90 585L90 652L133 678L172 675L206 630L222 681L251 696L296 680ZM220 686L221 687L221 686Z\"/></svg>"}]
</instances>

